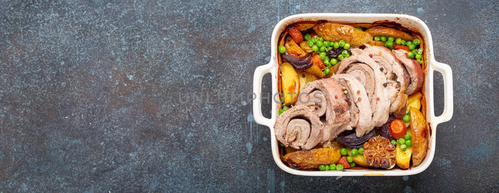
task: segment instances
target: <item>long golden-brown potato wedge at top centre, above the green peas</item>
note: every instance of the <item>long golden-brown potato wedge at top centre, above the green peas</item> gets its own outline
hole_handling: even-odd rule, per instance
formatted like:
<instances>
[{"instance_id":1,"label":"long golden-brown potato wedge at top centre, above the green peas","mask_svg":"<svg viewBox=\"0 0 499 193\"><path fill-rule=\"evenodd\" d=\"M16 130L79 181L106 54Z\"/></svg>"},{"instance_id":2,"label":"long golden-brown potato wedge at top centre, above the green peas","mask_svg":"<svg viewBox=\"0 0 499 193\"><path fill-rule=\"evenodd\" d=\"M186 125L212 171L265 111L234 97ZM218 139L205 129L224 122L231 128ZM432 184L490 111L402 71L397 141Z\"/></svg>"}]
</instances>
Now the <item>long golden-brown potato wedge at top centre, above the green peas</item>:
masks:
<instances>
[{"instance_id":1,"label":"long golden-brown potato wedge at top centre, above the green peas","mask_svg":"<svg viewBox=\"0 0 499 193\"><path fill-rule=\"evenodd\" d=\"M319 22L313 26L317 35L326 41L344 40L351 46L361 46L373 41L373 36L350 25L331 22Z\"/></svg>"}]
</instances>

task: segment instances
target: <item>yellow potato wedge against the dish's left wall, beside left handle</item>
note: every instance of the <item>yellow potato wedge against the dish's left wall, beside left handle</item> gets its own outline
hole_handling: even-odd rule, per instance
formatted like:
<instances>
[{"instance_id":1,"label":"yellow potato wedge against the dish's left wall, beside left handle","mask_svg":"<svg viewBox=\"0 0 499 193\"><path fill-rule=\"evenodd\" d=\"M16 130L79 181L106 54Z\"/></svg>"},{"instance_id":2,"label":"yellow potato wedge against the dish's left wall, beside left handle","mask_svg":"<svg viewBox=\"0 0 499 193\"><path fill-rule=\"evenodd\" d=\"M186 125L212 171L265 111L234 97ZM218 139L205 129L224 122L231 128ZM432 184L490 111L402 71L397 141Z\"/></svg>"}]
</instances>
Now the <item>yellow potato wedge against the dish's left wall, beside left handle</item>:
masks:
<instances>
[{"instance_id":1,"label":"yellow potato wedge against the dish's left wall, beside left handle","mask_svg":"<svg viewBox=\"0 0 499 193\"><path fill-rule=\"evenodd\" d=\"M286 105L294 104L300 92L300 80L291 64L284 62L281 65L282 93Z\"/></svg>"}]
</instances>

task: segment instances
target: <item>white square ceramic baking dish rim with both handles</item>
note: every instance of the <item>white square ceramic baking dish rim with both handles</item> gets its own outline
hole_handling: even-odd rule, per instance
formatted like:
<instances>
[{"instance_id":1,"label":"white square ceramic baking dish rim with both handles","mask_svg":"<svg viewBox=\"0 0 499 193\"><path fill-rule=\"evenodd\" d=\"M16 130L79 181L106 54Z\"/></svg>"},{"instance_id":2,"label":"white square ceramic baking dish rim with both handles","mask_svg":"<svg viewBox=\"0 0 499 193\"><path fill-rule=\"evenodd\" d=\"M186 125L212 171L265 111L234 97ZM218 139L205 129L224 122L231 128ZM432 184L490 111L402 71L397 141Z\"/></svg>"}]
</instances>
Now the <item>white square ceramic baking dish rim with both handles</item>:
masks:
<instances>
[{"instance_id":1,"label":"white square ceramic baking dish rim with both handles","mask_svg":"<svg viewBox=\"0 0 499 193\"><path fill-rule=\"evenodd\" d=\"M270 73L272 75L272 95L278 92L277 78L279 64L277 62L277 41L279 35L285 30L288 24L297 21L317 21L328 20L337 23L374 23L376 21L392 21L401 24L403 27L421 33L424 37L425 50L424 59L426 60L426 68L423 69L425 74L424 97L426 98L426 120L431 128L431 136L429 141L429 149L423 162L416 167L411 167L407 170L394 168L391 170L383 169L366 169L366 170L345 170L345 171L301 171L289 168L285 165L280 157L278 150L278 142L275 138L273 125L278 116L278 104L272 100L271 118L267 119L261 114L261 80L263 75ZM419 18L405 14L365 14L365 13L305 13L291 15L280 20L274 27L271 37L271 59L268 64L258 66L253 76L253 93L256 94L253 100L253 116L256 123L265 125L270 128L270 137L272 145L272 156L280 169L283 171L302 176L405 176L423 172L430 166L435 154L435 140L437 125L452 118L453 114L453 85L452 85L452 70L447 64L435 61L433 55L433 41L428 26ZM435 116L434 101L433 101L433 71L436 70L442 73L444 80L444 112L440 116Z\"/></svg>"}]
</instances>

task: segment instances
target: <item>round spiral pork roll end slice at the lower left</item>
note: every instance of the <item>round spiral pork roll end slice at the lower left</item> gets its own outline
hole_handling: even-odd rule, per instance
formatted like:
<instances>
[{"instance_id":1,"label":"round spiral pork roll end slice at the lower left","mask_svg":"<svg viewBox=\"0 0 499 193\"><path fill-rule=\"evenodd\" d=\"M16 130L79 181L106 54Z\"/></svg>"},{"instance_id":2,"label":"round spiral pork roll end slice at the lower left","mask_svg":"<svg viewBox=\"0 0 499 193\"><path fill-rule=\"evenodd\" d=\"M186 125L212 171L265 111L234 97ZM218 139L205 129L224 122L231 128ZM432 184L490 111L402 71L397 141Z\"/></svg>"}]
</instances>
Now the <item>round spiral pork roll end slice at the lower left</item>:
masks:
<instances>
[{"instance_id":1,"label":"round spiral pork roll end slice at the lower left","mask_svg":"<svg viewBox=\"0 0 499 193\"><path fill-rule=\"evenodd\" d=\"M274 133L286 147L310 150L322 140L323 127L317 114L306 106L297 105L277 117Z\"/></svg>"}]
</instances>

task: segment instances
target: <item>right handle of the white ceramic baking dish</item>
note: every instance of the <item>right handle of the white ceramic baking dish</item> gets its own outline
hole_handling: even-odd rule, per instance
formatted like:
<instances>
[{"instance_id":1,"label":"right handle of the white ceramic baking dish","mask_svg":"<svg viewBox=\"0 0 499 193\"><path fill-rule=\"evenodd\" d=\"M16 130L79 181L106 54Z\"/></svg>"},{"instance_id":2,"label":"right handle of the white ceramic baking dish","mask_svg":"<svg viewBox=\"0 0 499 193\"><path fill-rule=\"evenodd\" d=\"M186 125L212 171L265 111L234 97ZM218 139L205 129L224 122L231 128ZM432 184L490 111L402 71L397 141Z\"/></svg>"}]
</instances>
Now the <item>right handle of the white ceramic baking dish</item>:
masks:
<instances>
[{"instance_id":1,"label":"right handle of the white ceramic baking dish","mask_svg":"<svg viewBox=\"0 0 499 193\"><path fill-rule=\"evenodd\" d=\"M434 70L440 72L444 80L444 112L440 116L435 116L435 110L431 109L432 120L435 120L435 125L451 120L454 113L454 96L452 84L452 69L449 65L435 61L433 63ZM433 82L430 84L433 89ZM434 106L432 104L432 106Z\"/></svg>"}]
</instances>

